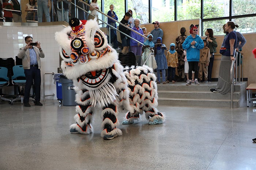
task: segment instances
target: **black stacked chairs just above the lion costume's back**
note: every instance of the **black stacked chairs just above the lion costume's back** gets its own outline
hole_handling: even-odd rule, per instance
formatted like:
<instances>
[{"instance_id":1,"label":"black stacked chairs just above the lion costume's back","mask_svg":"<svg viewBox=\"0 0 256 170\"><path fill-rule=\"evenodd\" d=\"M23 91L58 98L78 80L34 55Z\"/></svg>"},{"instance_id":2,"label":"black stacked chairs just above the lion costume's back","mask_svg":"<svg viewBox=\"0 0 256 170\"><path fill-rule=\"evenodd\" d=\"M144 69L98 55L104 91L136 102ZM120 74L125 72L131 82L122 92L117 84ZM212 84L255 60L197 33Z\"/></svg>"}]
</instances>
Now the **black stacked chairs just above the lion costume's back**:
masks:
<instances>
[{"instance_id":1,"label":"black stacked chairs just above the lion costume's back","mask_svg":"<svg viewBox=\"0 0 256 170\"><path fill-rule=\"evenodd\" d=\"M122 66L137 66L136 56L131 52L119 52L118 60Z\"/></svg>"}]
</instances>

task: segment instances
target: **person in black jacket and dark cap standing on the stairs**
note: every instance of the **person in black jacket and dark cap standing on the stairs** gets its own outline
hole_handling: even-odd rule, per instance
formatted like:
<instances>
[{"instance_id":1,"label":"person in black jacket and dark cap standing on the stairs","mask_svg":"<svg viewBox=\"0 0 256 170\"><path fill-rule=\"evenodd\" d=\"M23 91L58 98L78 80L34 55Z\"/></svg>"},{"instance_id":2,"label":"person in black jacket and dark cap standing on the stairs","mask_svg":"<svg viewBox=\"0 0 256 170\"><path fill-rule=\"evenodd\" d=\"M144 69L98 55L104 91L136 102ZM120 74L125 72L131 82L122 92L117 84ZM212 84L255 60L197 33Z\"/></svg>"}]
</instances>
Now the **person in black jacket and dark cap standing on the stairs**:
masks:
<instances>
[{"instance_id":1,"label":"person in black jacket and dark cap standing on the stairs","mask_svg":"<svg viewBox=\"0 0 256 170\"><path fill-rule=\"evenodd\" d=\"M128 20L130 17L131 17L131 13L126 12L124 15L124 18L120 21L120 23L124 24L125 26L120 24L118 28L121 32L127 35L130 35L130 32L131 32L131 30L127 28L127 27L130 27L130 25L128 24ZM122 52L129 52L130 39L121 32L120 32L120 37L121 37L122 46L123 46Z\"/></svg>"}]
</instances>

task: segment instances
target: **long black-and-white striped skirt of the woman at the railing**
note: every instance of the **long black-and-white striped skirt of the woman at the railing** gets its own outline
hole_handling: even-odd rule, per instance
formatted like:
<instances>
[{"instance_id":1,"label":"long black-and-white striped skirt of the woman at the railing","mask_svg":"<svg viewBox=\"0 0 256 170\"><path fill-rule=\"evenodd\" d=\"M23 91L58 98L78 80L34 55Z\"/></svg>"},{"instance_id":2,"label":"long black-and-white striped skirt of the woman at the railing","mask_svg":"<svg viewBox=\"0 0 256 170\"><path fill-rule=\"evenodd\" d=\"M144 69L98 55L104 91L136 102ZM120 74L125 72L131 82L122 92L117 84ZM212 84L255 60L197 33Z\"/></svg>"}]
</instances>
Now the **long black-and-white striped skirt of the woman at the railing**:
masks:
<instances>
[{"instance_id":1,"label":"long black-and-white striped skirt of the woman at the railing","mask_svg":"<svg viewBox=\"0 0 256 170\"><path fill-rule=\"evenodd\" d=\"M230 56L224 56L224 55L221 56L218 83L215 89L222 94L231 92L231 82L230 82L231 64L232 62L230 60ZM233 69L232 75L234 76L234 69Z\"/></svg>"}]
</instances>

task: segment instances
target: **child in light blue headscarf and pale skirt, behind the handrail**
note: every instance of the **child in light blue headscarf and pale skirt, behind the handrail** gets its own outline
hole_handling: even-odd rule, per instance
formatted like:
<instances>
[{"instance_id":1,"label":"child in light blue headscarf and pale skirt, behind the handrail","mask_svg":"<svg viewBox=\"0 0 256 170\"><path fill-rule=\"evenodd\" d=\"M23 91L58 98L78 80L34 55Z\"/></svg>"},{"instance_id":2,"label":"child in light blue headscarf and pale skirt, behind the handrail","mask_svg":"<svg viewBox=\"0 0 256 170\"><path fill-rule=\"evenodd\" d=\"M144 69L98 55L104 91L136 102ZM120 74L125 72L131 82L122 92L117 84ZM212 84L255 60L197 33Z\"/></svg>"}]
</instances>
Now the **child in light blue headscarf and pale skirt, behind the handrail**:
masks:
<instances>
[{"instance_id":1,"label":"child in light blue headscarf and pale skirt, behind the handrail","mask_svg":"<svg viewBox=\"0 0 256 170\"><path fill-rule=\"evenodd\" d=\"M145 46L142 47L142 61L145 62L148 58L148 56L150 55L150 57L148 58L147 62L145 63L148 67L151 67L153 69L157 68L157 63L155 62L155 56L151 55L153 52L153 48L155 46L155 43L153 43L153 35L149 34L148 36L148 40L146 40L143 44Z\"/></svg>"}]
</instances>

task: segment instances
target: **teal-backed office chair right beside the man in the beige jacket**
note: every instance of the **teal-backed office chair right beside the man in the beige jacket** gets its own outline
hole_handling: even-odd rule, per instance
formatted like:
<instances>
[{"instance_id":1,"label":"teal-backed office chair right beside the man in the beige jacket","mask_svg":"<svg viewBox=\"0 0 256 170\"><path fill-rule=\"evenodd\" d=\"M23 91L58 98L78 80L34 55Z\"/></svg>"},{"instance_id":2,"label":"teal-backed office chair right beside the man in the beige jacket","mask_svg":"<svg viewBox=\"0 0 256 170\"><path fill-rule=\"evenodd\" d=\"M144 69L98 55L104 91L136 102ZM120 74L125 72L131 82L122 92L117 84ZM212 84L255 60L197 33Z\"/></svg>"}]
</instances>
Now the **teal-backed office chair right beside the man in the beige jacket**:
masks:
<instances>
[{"instance_id":1,"label":"teal-backed office chair right beside the man in the beige jacket","mask_svg":"<svg viewBox=\"0 0 256 170\"><path fill-rule=\"evenodd\" d=\"M24 94L23 86L25 86L26 84L26 77L25 77L23 66L14 66L12 67L12 70L14 74L12 76L12 84L14 84L14 86L19 87L19 94L16 95L16 98L11 100L11 105L13 104L13 102L17 100L21 100L21 103L23 103L23 94Z\"/></svg>"}]
</instances>

